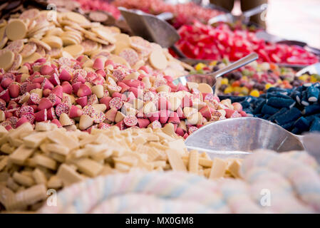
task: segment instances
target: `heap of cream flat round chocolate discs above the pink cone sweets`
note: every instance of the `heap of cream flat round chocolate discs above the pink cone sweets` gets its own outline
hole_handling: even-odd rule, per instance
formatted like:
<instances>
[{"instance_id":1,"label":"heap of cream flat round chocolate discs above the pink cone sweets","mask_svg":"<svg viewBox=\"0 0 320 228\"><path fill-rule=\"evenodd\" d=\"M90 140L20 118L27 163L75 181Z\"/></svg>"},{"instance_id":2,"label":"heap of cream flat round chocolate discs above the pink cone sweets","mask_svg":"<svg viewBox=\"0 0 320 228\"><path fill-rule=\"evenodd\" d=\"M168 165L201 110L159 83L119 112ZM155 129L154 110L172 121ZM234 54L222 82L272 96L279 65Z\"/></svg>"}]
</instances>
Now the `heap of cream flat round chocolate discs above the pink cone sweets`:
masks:
<instances>
[{"instance_id":1,"label":"heap of cream flat round chocolate discs above the pink cone sweets","mask_svg":"<svg viewBox=\"0 0 320 228\"><path fill-rule=\"evenodd\" d=\"M128 67L149 66L170 76L182 76L191 69L172 58L167 49L138 36L120 33L116 27L91 23L85 16L71 11L30 9L0 24L0 68L16 71L24 63L38 58L77 58L86 54L104 56Z\"/></svg>"}]
</instances>

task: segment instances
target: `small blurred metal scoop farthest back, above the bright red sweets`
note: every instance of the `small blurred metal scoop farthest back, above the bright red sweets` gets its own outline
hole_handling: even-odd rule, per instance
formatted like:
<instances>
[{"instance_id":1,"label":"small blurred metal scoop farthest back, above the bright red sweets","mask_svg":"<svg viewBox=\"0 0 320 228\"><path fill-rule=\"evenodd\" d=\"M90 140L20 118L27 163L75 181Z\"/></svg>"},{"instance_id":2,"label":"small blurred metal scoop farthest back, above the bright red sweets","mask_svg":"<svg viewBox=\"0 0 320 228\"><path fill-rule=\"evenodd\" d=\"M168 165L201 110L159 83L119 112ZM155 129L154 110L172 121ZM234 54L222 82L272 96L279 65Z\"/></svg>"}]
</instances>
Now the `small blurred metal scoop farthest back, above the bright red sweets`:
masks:
<instances>
[{"instance_id":1,"label":"small blurred metal scoop farthest back, above the bright red sweets","mask_svg":"<svg viewBox=\"0 0 320 228\"><path fill-rule=\"evenodd\" d=\"M260 6L254 7L252 9L249 9L247 11L244 11L241 15L235 16L231 13L229 14L220 14L219 16L212 17L209 19L207 24L215 24L217 22L223 21L223 22L229 22L234 23L236 21L244 21L244 23L249 22L249 18L251 16L254 16L256 14L260 14L263 11L265 11L268 8L268 4L262 4Z\"/></svg>"}]
</instances>

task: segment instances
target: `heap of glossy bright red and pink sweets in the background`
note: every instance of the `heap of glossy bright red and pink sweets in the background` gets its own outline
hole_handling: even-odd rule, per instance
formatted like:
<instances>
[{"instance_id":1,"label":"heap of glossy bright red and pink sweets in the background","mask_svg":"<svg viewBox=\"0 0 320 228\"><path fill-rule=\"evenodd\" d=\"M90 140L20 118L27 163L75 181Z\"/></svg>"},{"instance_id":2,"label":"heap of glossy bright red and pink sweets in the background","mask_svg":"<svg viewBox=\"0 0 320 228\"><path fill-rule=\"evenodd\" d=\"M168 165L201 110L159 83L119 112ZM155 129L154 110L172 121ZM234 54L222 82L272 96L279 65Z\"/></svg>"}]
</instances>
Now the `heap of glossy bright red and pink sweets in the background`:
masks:
<instances>
[{"instance_id":1,"label":"heap of glossy bright red and pink sweets in the background","mask_svg":"<svg viewBox=\"0 0 320 228\"><path fill-rule=\"evenodd\" d=\"M259 61L310 65L319 61L313 53L299 46L267 43L247 30L232 31L227 24L216 28L195 21L179 29L177 47L190 58L236 61L249 53L259 54Z\"/></svg>"}]
</instances>

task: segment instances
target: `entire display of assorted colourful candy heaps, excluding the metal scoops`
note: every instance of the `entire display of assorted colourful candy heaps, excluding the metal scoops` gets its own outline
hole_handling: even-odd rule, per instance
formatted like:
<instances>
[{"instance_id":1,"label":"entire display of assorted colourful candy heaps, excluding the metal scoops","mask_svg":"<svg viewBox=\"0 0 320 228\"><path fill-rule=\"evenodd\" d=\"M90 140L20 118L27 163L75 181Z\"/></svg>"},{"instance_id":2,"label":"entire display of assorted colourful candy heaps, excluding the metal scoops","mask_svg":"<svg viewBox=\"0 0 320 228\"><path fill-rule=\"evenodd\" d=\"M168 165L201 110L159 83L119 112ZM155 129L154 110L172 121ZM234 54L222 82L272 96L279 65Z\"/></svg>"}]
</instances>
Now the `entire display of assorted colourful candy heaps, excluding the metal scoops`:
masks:
<instances>
[{"instance_id":1,"label":"entire display of assorted colourful candy heaps, excluding the metal scoops","mask_svg":"<svg viewBox=\"0 0 320 228\"><path fill-rule=\"evenodd\" d=\"M197 64L133 36L118 6L172 13ZM242 21L205 25L219 14L192 1L1 2L0 213L320 213L319 71L280 64L319 56ZM215 91L188 77L253 52ZM262 137L258 118L301 151L256 150L289 142L274 124Z\"/></svg>"}]
</instances>

